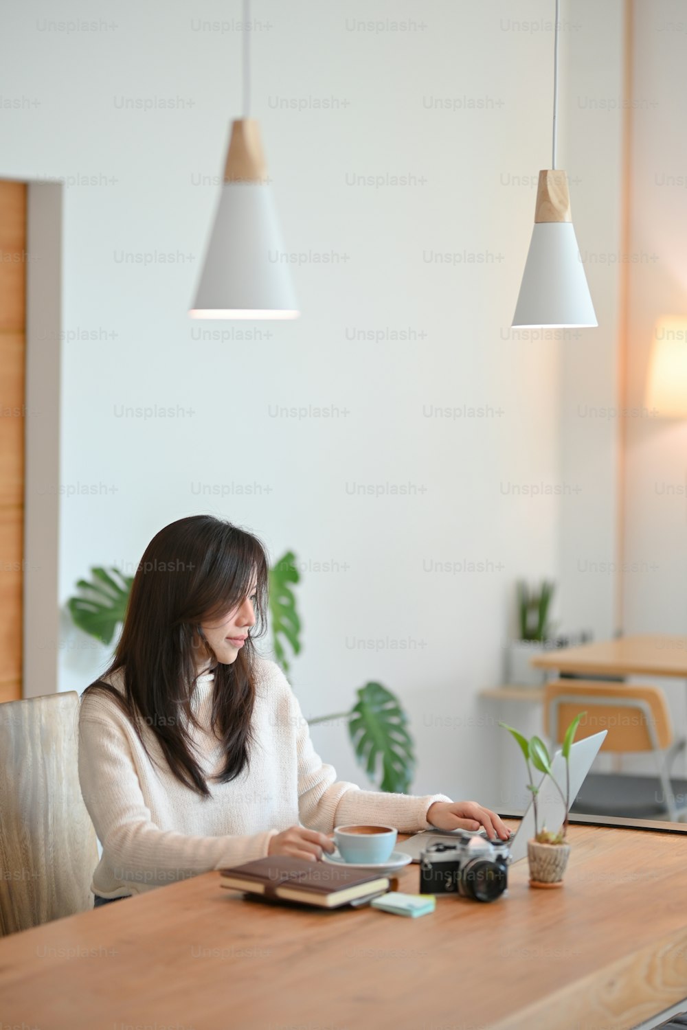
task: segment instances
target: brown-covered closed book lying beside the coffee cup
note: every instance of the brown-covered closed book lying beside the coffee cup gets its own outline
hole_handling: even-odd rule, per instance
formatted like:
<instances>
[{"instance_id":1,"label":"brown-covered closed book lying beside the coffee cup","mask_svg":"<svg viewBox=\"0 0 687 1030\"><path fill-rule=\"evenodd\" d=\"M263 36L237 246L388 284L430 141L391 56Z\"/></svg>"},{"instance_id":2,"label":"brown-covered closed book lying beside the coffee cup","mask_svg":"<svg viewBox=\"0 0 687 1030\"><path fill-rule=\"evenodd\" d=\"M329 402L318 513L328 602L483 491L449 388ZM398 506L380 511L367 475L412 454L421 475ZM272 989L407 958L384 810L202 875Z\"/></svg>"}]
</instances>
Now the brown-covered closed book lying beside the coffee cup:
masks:
<instances>
[{"instance_id":1,"label":"brown-covered closed book lying beside the coffee cup","mask_svg":"<svg viewBox=\"0 0 687 1030\"><path fill-rule=\"evenodd\" d=\"M270 900L283 898L336 908L368 894L388 890L388 877L347 869L330 862L309 862L304 858L279 855L257 858L244 865L219 870L222 887L261 894Z\"/></svg>"}]
</instances>

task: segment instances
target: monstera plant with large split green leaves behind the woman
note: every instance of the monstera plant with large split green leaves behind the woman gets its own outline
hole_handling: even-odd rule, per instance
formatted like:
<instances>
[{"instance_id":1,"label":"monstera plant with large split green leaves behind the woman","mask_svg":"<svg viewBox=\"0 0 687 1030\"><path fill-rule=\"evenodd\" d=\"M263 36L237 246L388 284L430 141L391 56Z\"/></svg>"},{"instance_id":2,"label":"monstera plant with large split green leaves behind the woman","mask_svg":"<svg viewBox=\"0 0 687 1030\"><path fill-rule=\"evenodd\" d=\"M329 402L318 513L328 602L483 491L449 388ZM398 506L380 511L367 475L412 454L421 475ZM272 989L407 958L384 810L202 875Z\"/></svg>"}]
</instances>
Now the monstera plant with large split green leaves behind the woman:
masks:
<instances>
[{"instance_id":1,"label":"monstera plant with large split green leaves behind the woman","mask_svg":"<svg viewBox=\"0 0 687 1030\"><path fill-rule=\"evenodd\" d=\"M301 652L302 626L294 592L300 579L293 551L270 569L269 627L274 656L284 671L289 667L289 657ZM103 644L111 644L124 622L133 582L133 577L118 569L91 569L91 579L78 580L78 593L67 602L74 624ZM408 717L398 697L381 683L366 683L356 695L348 711L308 721L315 725L346 719L355 757L371 782L381 778L381 790L405 793L415 771Z\"/></svg>"}]
</instances>

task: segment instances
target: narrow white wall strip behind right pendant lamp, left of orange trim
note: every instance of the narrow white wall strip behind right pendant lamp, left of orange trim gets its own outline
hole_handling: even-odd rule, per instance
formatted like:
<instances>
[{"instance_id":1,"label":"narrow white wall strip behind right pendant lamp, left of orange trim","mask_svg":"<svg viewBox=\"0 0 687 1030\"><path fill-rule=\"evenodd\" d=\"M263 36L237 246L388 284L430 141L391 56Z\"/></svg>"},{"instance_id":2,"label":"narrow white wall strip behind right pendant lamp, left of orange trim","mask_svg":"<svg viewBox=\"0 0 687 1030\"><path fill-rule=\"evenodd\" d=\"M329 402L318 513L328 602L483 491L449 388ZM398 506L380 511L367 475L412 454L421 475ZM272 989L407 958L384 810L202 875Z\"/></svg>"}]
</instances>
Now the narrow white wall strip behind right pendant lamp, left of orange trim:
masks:
<instances>
[{"instance_id":1,"label":"narrow white wall strip behind right pendant lamp, left of orange trim","mask_svg":"<svg viewBox=\"0 0 687 1030\"><path fill-rule=\"evenodd\" d=\"M624 4L576 0L565 18L560 162L598 329L569 331L561 348L561 616L608 639L617 628Z\"/></svg>"}]
</instances>

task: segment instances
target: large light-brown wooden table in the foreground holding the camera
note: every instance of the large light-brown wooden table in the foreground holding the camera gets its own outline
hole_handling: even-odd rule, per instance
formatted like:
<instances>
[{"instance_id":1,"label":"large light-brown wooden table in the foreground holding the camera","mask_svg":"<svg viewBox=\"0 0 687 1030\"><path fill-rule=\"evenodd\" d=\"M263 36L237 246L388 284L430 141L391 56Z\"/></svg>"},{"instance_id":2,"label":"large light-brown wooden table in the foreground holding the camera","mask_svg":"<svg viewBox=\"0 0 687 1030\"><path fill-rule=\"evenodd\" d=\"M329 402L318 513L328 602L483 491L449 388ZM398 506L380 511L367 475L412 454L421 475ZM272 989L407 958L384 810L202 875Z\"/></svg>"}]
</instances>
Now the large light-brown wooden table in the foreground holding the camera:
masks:
<instances>
[{"instance_id":1,"label":"large light-brown wooden table in the foreground holding the camera","mask_svg":"<svg viewBox=\"0 0 687 1030\"><path fill-rule=\"evenodd\" d=\"M680 827L684 831L685 827ZM623 1030L687 995L687 836L571 826L565 886L417 920L268 906L210 872L0 940L40 1030ZM414 892L418 868L399 878ZM687 1005L686 1005L687 1007Z\"/></svg>"}]
</instances>

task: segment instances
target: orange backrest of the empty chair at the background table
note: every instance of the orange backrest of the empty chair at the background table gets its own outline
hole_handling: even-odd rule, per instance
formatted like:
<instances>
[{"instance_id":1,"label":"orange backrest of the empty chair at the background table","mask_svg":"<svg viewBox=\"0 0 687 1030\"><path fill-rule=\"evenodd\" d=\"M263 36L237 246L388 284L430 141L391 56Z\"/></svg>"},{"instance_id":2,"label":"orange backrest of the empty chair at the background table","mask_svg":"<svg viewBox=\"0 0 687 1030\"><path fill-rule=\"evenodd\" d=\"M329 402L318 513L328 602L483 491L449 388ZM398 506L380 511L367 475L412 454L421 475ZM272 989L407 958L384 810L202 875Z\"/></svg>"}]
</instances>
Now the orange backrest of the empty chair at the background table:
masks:
<instances>
[{"instance_id":1,"label":"orange backrest of the empty chair at the background table","mask_svg":"<svg viewBox=\"0 0 687 1030\"><path fill-rule=\"evenodd\" d=\"M671 714L659 687L586 680L556 680L544 690L544 730L559 744L580 713L576 740L608 730L604 750L616 753L665 750L673 741Z\"/></svg>"}]
</instances>

